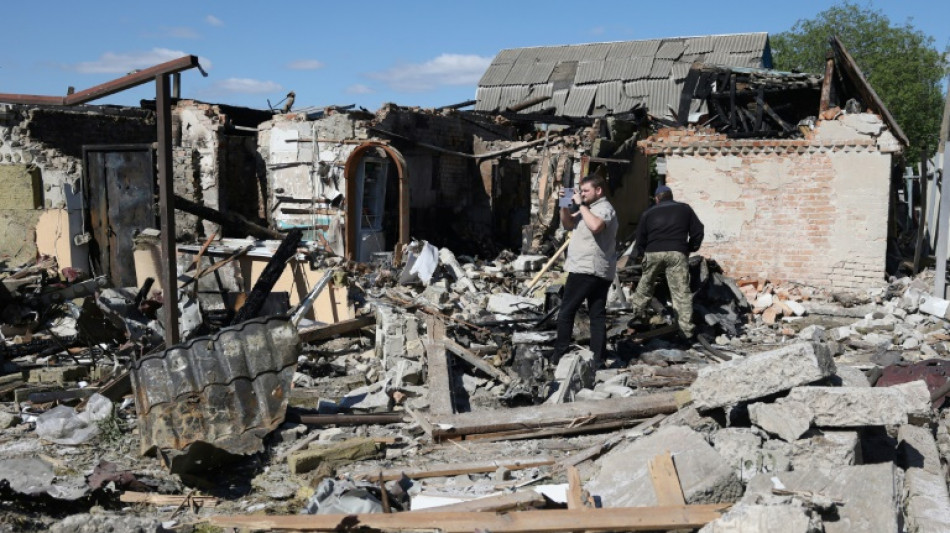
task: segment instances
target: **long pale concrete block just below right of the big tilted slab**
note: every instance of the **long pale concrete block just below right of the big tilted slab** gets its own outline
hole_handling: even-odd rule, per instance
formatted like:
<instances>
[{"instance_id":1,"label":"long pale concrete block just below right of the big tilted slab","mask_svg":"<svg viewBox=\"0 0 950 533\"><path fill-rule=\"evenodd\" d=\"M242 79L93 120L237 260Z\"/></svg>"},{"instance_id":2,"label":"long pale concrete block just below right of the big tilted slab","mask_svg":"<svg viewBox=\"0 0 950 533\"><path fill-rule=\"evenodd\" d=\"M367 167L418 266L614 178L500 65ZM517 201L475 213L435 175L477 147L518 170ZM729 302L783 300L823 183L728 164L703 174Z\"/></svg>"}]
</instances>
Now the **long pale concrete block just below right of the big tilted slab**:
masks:
<instances>
[{"instance_id":1,"label":"long pale concrete block just below right of the big tilted slab","mask_svg":"<svg viewBox=\"0 0 950 533\"><path fill-rule=\"evenodd\" d=\"M906 424L930 412L930 392L922 380L893 387L796 387L789 401L804 404L818 427Z\"/></svg>"}]
</instances>

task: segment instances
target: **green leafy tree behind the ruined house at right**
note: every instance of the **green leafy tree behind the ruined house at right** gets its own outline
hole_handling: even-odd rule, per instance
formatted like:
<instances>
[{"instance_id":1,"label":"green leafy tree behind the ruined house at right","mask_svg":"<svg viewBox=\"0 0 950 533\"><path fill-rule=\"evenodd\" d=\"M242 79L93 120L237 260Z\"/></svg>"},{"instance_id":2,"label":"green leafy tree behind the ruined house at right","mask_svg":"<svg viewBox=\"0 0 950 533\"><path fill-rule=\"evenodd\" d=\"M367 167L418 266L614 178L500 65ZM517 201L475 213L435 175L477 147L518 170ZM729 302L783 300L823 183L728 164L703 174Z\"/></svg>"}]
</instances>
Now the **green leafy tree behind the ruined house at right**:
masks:
<instances>
[{"instance_id":1,"label":"green leafy tree behind the ruined house at right","mask_svg":"<svg viewBox=\"0 0 950 533\"><path fill-rule=\"evenodd\" d=\"M879 10L845 1L772 36L775 68L824 72L828 38L837 35L910 140L909 159L937 146L947 73L946 53L910 21L897 25ZM843 102L842 102L843 104Z\"/></svg>"}]
</instances>

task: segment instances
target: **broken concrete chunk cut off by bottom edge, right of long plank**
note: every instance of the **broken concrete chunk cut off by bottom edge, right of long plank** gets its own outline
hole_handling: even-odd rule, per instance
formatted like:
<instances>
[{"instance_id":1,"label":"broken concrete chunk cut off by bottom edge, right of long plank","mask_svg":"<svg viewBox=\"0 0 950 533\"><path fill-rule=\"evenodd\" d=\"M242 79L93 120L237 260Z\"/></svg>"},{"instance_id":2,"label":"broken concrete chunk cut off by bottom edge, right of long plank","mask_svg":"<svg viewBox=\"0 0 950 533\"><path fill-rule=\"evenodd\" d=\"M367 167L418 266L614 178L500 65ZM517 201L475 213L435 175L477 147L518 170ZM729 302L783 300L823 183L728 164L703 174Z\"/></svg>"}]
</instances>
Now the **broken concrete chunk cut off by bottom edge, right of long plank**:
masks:
<instances>
[{"instance_id":1,"label":"broken concrete chunk cut off by bottom edge, right of long plank","mask_svg":"<svg viewBox=\"0 0 950 533\"><path fill-rule=\"evenodd\" d=\"M706 524L699 533L823 533L821 517L801 503L754 505L739 504L716 520Z\"/></svg>"}]
</instances>

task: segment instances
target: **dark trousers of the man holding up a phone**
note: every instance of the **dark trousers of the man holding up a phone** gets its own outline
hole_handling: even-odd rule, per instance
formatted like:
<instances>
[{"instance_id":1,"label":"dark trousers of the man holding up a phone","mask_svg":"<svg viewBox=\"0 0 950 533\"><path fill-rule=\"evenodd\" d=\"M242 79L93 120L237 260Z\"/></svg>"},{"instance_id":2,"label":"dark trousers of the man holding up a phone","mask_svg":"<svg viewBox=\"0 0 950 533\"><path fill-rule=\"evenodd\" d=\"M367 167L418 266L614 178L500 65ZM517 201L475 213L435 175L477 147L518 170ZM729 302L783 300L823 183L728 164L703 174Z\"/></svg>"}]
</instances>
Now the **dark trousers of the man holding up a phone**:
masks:
<instances>
[{"instance_id":1,"label":"dark trousers of the man holding up a phone","mask_svg":"<svg viewBox=\"0 0 950 533\"><path fill-rule=\"evenodd\" d=\"M564 296L557 315L557 340L554 341L554 360L561 359L571 344L574 334L574 317L581 303L587 300L590 313L590 351L597 361L604 360L607 349L607 291L611 280L592 274L567 275Z\"/></svg>"}]
</instances>

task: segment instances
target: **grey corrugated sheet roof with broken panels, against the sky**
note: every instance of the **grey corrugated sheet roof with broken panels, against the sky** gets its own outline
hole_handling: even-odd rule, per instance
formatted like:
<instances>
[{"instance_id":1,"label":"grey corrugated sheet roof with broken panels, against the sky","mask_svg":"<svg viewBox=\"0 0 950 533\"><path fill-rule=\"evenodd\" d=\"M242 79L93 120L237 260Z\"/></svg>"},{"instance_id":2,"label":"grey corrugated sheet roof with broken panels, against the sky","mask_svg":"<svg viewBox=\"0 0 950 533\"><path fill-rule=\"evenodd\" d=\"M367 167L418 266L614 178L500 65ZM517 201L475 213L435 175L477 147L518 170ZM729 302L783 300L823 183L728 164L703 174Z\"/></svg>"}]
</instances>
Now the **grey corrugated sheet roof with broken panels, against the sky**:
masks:
<instances>
[{"instance_id":1,"label":"grey corrugated sheet roof with broken panels, against the sky","mask_svg":"<svg viewBox=\"0 0 950 533\"><path fill-rule=\"evenodd\" d=\"M548 101L522 109L555 115L601 116L646 106L672 116L693 62L772 67L767 33L741 33L566 46L510 48L495 56L478 82L476 111L504 111L538 96Z\"/></svg>"}]
</instances>

